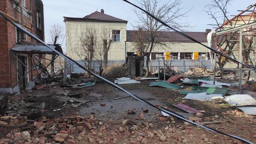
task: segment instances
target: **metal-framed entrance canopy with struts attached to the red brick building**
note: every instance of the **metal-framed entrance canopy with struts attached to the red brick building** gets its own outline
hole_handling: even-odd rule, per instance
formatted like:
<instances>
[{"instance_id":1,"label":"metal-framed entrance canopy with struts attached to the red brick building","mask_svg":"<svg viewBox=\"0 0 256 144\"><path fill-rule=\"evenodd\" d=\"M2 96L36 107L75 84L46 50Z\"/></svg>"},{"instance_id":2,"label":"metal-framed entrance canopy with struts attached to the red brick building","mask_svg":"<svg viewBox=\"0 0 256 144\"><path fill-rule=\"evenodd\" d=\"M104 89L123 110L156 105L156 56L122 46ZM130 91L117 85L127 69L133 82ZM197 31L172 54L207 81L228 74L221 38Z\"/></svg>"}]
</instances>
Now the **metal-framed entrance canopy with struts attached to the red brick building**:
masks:
<instances>
[{"instance_id":1,"label":"metal-framed entrance canopy with struts attached to the red brick building","mask_svg":"<svg viewBox=\"0 0 256 144\"><path fill-rule=\"evenodd\" d=\"M60 46L53 46L51 45L52 48L55 48L59 52L62 52L62 49ZM49 50L46 46L38 46L38 45L23 45L23 44L16 44L11 50L10 50L10 67L12 68L12 65L15 64L15 71L17 72L17 83L15 85L12 85L12 87L15 87L16 85L19 85L19 82L23 81L24 83L24 78L29 77L29 74L31 74L31 81L34 81L38 76L41 76L42 73L47 74L47 68L50 66L54 61L45 58L46 55L56 55L54 57L54 60L59 56L56 54L54 51ZM19 56L25 57L26 61L22 61ZM30 61L29 61L30 60ZM45 61L50 61L48 65L43 63L42 60ZM29 63L31 62L31 63ZM22 65L22 68L25 70L20 70L18 67L18 63ZM33 70L37 72L37 76L33 78ZM13 70L11 70L11 73ZM11 74L12 76L12 74ZM49 73L48 73L48 76ZM13 78L11 78L13 79ZM30 79L28 79L28 82Z\"/></svg>"}]
</instances>

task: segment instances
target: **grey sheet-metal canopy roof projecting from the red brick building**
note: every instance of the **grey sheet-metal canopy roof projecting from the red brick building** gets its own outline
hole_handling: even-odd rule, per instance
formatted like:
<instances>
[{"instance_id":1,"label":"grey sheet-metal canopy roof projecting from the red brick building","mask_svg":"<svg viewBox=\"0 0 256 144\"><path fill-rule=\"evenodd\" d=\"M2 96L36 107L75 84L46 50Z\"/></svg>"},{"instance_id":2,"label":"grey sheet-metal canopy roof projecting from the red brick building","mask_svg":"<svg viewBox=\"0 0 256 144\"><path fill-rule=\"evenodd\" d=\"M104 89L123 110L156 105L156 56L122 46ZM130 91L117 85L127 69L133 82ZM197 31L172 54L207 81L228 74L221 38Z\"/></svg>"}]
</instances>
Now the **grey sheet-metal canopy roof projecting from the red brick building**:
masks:
<instances>
[{"instance_id":1,"label":"grey sheet-metal canopy roof projecting from the red brick building","mask_svg":"<svg viewBox=\"0 0 256 144\"><path fill-rule=\"evenodd\" d=\"M58 50L59 52L63 53L61 48L57 48L54 45L49 45L51 48L54 48L56 50ZM33 53L33 54L55 54L55 52L53 52L53 50L51 50L50 48L46 47L46 46L42 46L42 45L25 45L25 44L16 44L15 46L13 46L13 48L11 49L11 51L16 51L16 52L20 52L20 53Z\"/></svg>"}]
</instances>

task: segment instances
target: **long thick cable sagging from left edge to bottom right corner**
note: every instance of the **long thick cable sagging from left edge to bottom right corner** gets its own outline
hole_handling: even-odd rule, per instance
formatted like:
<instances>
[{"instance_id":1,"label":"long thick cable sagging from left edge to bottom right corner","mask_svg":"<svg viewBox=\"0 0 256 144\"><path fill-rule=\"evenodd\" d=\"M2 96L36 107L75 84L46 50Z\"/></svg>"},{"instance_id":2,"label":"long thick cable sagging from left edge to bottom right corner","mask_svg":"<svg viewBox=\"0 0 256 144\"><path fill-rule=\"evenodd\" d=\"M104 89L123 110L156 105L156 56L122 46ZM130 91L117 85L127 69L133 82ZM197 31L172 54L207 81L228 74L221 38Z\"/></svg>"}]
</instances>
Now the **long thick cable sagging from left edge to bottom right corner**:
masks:
<instances>
[{"instance_id":1,"label":"long thick cable sagging from left edge to bottom right corner","mask_svg":"<svg viewBox=\"0 0 256 144\"><path fill-rule=\"evenodd\" d=\"M33 39L35 39L36 41L40 42L41 44L43 44L44 46L48 47L50 50L54 51L56 54L58 55L61 55L63 58L67 59L70 63L74 64L74 65L77 65L79 66L80 68L82 68L83 70L86 70L87 72L89 72L91 75L95 76L96 78L104 81L105 83L108 83L109 85L121 90L122 92L125 92L127 94L129 94L130 96L132 96L133 98L135 98L136 100L139 100L143 103L147 103L148 105L160 110L160 111L163 111L164 113L167 113L171 116L173 116L174 118L177 118L177 119L180 119L180 120L183 120L185 122L189 122L190 124L193 124L195 126L199 126L199 127L202 127L204 129L207 129L209 131L213 131L215 133L221 133L221 132L218 132L217 130L213 129L213 128L210 128L210 127L206 127L206 126L202 126L200 124L197 124L195 122L191 122L190 120L187 120L186 118L184 118L183 116L180 116L176 113L174 113L173 111L170 111L170 110L166 110L166 109L162 109L162 108L159 108L159 107L156 107L155 105L153 105L152 103L149 103L147 102L146 100L143 100L142 98L138 97L138 96L135 96L133 94L131 94L130 92L128 92L127 90L123 89L122 87L119 87L118 85L116 85L115 83L112 83L111 81L109 81L108 79L105 79L105 78L102 78L101 76L98 76L97 74L95 74L94 72L91 72L90 70L87 70L87 68L83 67L82 65L80 65L78 62L74 61L73 59L71 59L70 57L68 57L67 55L65 54L62 54L60 53L59 51L55 50L54 48L51 48L48 44L46 44L45 42L43 42L41 39L39 39L38 37L36 37L35 35L33 35L32 33L30 33L29 31L25 30L24 28L22 28L21 26L19 26L18 24L14 23L13 21L11 21L9 18L7 18L1 11L0 11L0 16L2 16L3 18L5 18L7 21L9 21L11 24L13 24L14 26L16 26L16 28L18 28L20 31L23 31L24 33L26 33L27 35L29 35L30 37L32 37ZM234 135L229 135L229 134L226 134L226 133L221 133L223 135L227 135L229 137L232 137L232 138L236 138L238 140L241 140L247 144L253 144L243 138L240 138L240 137L237 137L237 136L234 136Z\"/></svg>"}]
</instances>

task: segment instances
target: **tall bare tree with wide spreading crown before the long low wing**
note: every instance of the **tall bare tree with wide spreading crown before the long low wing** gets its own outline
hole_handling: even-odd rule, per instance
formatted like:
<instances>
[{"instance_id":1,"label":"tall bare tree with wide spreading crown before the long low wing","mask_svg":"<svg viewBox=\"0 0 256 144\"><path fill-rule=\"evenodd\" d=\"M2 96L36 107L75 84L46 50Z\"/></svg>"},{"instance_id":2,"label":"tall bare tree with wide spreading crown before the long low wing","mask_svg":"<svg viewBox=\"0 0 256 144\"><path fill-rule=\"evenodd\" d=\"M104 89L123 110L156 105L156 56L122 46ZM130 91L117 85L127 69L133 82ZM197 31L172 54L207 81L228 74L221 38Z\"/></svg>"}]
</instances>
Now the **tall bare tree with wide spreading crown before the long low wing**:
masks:
<instances>
[{"instance_id":1,"label":"tall bare tree with wide spreading crown before the long low wing","mask_svg":"<svg viewBox=\"0 0 256 144\"><path fill-rule=\"evenodd\" d=\"M145 10L152 13L157 18L160 18L163 22L169 24L173 28L178 30L184 30L189 27L189 24L180 22L180 18L186 17L186 14L190 11L182 12L182 0L169 0L167 2L161 2L160 0L141 0L140 4ZM169 28L165 27L163 24L155 20L154 18L147 15L145 12L140 11L138 9L134 9L135 14L137 15L139 21L138 26L134 26L135 28L143 28L143 30L148 31L150 46L148 52L146 53L147 60L147 72L146 77L149 74L149 61L150 54L154 48L154 45L158 42L161 44L161 40L157 41L157 39L161 39L160 37L170 38L168 35L161 35L160 31L168 31Z\"/></svg>"}]
</instances>

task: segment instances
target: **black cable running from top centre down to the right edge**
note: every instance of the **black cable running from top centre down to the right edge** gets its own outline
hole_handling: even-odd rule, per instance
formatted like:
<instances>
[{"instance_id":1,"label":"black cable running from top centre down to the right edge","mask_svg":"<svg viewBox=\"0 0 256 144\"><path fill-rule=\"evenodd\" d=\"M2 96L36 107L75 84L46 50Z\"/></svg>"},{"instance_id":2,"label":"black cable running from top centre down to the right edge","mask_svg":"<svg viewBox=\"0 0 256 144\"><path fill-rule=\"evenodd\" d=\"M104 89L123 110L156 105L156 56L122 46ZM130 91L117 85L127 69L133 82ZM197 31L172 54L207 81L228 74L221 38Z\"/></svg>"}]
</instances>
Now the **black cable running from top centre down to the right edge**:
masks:
<instances>
[{"instance_id":1,"label":"black cable running from top centre down to the right edge","mask_svg":"<svg viewBox=\"0 0 256 144\"><path fill-rule=\"evenodd\" d=\"M219 52L218 50L215 50L214 48L211 48L210 46L206 46L205 44L202 44L201 42L197 41L197 40L194 39L193 37L190 37L190 36L186 35L185 33L182 33L181 31L178 31L178 30L172 28L171 26L169 26L168 24L166 24L165 22L163 22L163 21L160 20L159 18L155 17L154 15L152 15L151 13L149 13L148 11L146 11L145 9L143 9L143 8L141 8L141 7L137 6L137 5L135 5L135 4L131 3L131 2L129 2L128 0L123 0L123 1L124 1L124 2L127 2L127 3L129 3L129 4L131 4L131 5L133 5L133 6L135 6L135 7L137 7L138 9L140 9L140 10L142 10L142 11L144 11L145 13L147 13L147 15L150 15L150 17L154 18L155 20L157 20L158 22L160 22L160 23L163 24L164 26L167 26L168 28L170 28L170 29L176 31L177 33L179 33L180 35L186 37L187 39L190 39L191 41L197 42L198 44L201 44L202 46L204 46L204 47L210 49L211 51L213 51L213 52L215 52L215 53L217 53L217 54L219 54L219 55L222 55L223 57L226 57L226 58L229 59L229 60L232 60L232 61L234 61L234 62L236 62L236 63L240 63L241 65L244 65L244 66L246 66L246 67L248 67L248 68L252 68L253 70L256 70L255 67L250 66L250 65L247 65L247 64L245 64L245 63L241 63L241 62L237 61L236 59L233 59L232 57L230 57L230 56L228 56L228 55L226 55L226 54L223 54L222 52Z\"/></svg>"}]
</instances>

